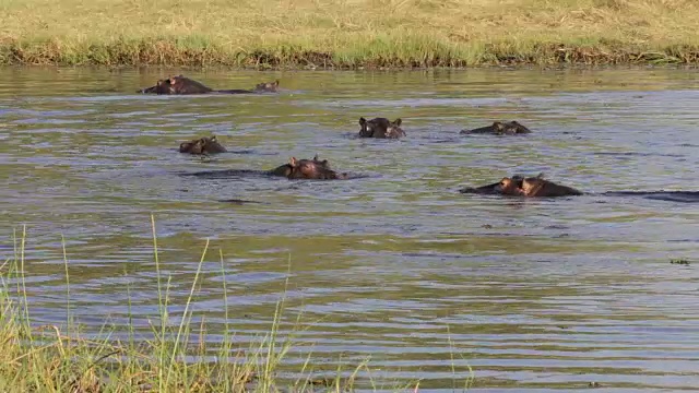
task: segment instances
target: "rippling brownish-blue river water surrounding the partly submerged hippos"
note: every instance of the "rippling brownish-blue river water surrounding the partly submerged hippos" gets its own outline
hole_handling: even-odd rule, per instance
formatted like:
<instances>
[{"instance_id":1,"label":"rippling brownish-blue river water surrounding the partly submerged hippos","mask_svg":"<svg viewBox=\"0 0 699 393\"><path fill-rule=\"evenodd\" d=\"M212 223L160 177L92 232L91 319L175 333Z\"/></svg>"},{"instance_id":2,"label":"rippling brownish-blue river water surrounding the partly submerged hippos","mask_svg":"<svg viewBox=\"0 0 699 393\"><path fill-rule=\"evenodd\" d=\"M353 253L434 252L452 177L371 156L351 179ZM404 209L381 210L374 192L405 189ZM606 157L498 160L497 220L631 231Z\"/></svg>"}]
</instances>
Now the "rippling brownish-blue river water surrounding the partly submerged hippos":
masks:
<instances>
[{"instance_id":1,"label":"rippling brownish-blue river water surrounding the partly submerged hippos","mask_svg":"<svg viewBox=\"0 0 699 393\"><path fill-rule=\"evenodd\" d=\"M696 255L699 204L599 194L699 190L696 71L212 71L188 74L220 88L280 78L285 92L134 94L180 71L0 70L0 253L26 224L37 323L66 318L63 235L76 318L126 323L130 296L147 331L153 213L171 312L210 238L196 313L222 333L221 250L236 340L269 331L285 294L283 333L304 329L291 366L309 352L318 370L370 358L371 378L427 391L470 369L484 391L699 389L699 271L668 263ZM400 117L407 138L352 139L362 116ZM494 119L534 132L459 135ZM232 153L176 152L211 133ZM315 154L363 176L182 176ZM597 194L458 192L541 171Z\"/></svg>"}]
</instances>

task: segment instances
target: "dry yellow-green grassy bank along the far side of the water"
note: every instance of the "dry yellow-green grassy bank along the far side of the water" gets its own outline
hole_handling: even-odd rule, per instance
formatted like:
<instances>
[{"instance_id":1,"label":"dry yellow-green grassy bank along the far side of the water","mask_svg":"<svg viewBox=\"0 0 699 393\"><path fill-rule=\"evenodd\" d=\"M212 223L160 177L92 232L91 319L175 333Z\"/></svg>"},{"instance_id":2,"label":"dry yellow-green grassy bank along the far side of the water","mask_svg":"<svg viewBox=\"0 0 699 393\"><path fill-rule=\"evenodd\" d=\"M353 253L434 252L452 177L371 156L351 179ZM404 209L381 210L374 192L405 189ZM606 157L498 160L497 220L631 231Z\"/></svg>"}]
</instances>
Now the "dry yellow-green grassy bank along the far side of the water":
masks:
<instances>
[{"instance_id":1,"label":"dry yellow-green grassy bank along the far side of the water","mask_svg":"<svg viewBox=\"0 0 699 393\"><path fill-rule=\"evenodd\" d=\"M696 0L0 0L0 63L694 63Z\"/></svg>"}]
</instances>

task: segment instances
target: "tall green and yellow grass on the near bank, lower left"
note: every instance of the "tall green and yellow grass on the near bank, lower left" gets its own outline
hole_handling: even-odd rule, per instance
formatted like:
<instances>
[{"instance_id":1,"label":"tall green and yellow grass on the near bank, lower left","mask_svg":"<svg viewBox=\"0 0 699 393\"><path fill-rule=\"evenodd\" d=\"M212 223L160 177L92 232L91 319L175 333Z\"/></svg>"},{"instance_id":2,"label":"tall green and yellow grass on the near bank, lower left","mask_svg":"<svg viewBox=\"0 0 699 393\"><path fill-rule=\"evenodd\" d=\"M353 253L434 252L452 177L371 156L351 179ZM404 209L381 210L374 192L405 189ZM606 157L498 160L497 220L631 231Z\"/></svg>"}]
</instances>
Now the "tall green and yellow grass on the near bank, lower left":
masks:
<instances>
[{"instance_id":1,"label":"tall green and yellow grass on the near bank, lower left","mask_svg":"<svg viewBox=\"0 0 699 393\"><path fill-rule=\"evenodd\" d=\"M155 223L153 222L153 227ZM15 236L14 257L0 263L0 391L1 392L305 392L327 389L335 392L353 389L362 364L353 369L337 370L336 378L311 380L310 359L296 370L308 374L296 381L280 382L277 369L291 349L291 336L279 337L283 300L277 305L270 333L261 337L245 354L236 349L229 326L225 326L217 349L208 349L209 338L192 336L191 305L199 287L199 277L209 243L202 253L189 297L181 317L168 317L169 277L161 276L157 241L154 231L154 254L158 282L158 323L151 326L150 340L137 340L134 327L105 325L92 338L81 336L70 313L61 330L58 325L37 326L32 323L25 285L24 245L26 231ZM66 250L63 248L63 255ZM223 255L222 273L225 277ZM67 301L70 301L70 277L66 261ZM225 294L224 279L224 294ZM227 318L227 298L224 298ZM69 306L69 305L67 305ZM70 310L70 307L67 307ZM129 305L130 309L130 305ZM203 320L203 319L202 319ZM203 326L201 332L206 330ZM200 333L205 334L205 333ZM127 336L118 340L116 336ZM213 359L212 359L213 357ZM350 372L348 378L340 378ZM346 377L346 376L345 376ZM466 386L472 383L466 380ZM319 386L320 384L320 386ZM418 382L395 390L417 391Z\"/></svg>"}]
</instances>

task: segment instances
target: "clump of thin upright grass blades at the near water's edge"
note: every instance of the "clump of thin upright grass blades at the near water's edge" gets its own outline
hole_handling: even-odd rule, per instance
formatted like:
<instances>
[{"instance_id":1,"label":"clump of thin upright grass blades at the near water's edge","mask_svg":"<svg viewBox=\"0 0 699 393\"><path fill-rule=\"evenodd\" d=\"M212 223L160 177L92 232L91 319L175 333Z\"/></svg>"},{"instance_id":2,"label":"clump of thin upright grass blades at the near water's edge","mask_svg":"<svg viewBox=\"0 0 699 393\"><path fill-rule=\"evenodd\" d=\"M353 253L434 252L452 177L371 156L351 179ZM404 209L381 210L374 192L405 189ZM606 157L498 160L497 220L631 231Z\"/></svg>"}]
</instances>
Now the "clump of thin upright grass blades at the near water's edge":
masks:
<instances>
[{"instance_id":1,"label":"clump of thin upright grass blades at the near water's edge","mask_svg":"<svg viewBox=\"0 0 699 393\"><path fill-rule=\"evenodd\" d=\"M155 223L153 222L153 227ZM352 391L357 376L364 373L364 389L371 389L375 381L368 359L359 364L341 364L333 369L320 370L309 355L296 358L294 366L284 366L289 352L298 345L301 332L298 320L285 321L284 298L269 314L269 330L258 337L246 337L251 344L242 345L236 331L228 323L229 301L226 298L226 266L221 260L222 293L225 310L223 325L209 325L205 314L197 313L197 302L202 286L202 265L216 258L209 242L203 248L198 270L183 301L173 299L173 277L165 274L158 260L157 239L154 231L153 269L157 277L157 299L153 299L156 313L150 315L150 326L137 326L131 302L127 317L120 321L105 321L102 329L93 325L82 329L78 314L84 314L73 305L71 295L70 257L64 247L64 291L55 293L60 286L42 288L42 281L32 279L32 265L25 258L26 228L15 233L13 255L0 261L0 392L322 392ZM211 262L208 262L211 263ZM115 277L128 282L128 277ZM129 294L130 286L125 285ZM139 294L135 294L137 297ZM52 323L39 323L46 314L33 312L32 299L63 298L66 318ZM128 295L131 299L131 295ZM44 309L46 310L46 309ZM52 310L50 315L60 314ZM246 333L247 335L248 333ZM295 341L296 340L296 341ZM339 357L341 354L337 354ZM294 356L299 356L294 355ZM323 361L327 361L324 359ZM461 381L467 389L473 376ZM417 392L419 382L384 382L377 389L396 392Z\"/></svg>"}]
</instances>

